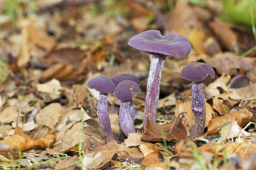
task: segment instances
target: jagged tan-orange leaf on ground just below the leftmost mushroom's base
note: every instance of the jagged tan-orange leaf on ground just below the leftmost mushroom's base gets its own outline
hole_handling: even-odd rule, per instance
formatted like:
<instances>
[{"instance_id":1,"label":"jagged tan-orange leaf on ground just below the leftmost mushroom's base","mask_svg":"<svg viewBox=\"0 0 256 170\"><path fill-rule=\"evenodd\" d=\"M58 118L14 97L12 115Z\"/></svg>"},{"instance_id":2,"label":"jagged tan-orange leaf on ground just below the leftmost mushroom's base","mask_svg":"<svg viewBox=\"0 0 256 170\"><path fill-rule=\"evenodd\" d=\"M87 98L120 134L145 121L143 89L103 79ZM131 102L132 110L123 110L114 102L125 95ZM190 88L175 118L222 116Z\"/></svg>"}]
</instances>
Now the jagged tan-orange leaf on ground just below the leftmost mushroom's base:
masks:
<instances>
[{"instance_id":1,"label":"jagged tan-orange leaf on ground just below the leftmost mushroom's base","mask_svg":"<svg viewBox=\"0 0 256 170\"><path fill-rule=\"evenodd\" d=\"M108 141L106 145L95 144L93 145L93 151L93 156L99 152L101 152L105 156L105 160L103 161L103 163L96 167L96 169L99 169L112 160L112 157L115 155L117 151L117 141Z\"/></svg>"}]
</instances>

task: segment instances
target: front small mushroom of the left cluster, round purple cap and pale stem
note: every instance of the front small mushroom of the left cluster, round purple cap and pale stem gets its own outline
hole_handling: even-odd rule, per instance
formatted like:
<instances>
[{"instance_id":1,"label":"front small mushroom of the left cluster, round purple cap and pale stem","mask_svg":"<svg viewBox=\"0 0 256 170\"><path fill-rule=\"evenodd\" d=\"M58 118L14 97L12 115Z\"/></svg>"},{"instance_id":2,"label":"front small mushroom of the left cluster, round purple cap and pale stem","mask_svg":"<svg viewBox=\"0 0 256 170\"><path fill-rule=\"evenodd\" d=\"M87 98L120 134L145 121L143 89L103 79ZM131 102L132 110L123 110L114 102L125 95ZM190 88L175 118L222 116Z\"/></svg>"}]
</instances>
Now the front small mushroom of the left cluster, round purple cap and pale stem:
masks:
<instances>
[{"instance_id":1,"label":"front small mushroom of the left cluster, round purple cap and pale stem","mask_svg":"<svg viewBox=\"0 0 256 170\"><path fill-rule=\"evenodd\" d=\"M130 112L130 101L135 94L140 94L140 87L131 80L124 80L116 86L114 94L121 100L119 123L124 135L128 137L128 133L136 132Z\"/></svg>"}]
</instances>

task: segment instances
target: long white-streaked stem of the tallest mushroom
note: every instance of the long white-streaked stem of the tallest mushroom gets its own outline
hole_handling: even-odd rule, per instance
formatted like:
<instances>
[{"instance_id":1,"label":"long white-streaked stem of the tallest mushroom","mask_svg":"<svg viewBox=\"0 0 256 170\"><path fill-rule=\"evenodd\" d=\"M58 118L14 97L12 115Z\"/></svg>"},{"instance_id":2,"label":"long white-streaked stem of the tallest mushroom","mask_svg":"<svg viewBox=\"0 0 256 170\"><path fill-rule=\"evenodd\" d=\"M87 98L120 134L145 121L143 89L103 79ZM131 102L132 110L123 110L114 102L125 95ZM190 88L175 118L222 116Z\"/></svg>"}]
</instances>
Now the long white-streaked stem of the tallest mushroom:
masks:
<instances>
[{"instance_id":1,"label":"long white-streaked stem of the tallest mushroom","mask_svg":"<svg viewBox=\"0 0 256 170\"><path fill-rule=\"evenodd\" d=\"M145 96L145 108L143 118L144 131L145 125L147 123L147 118L151 120L153 123L156 123L157 104L159 100L161 76L165 61L166 55L152 55L150 70L148 74L147 93Z\"/></svg>"}]
</instances>

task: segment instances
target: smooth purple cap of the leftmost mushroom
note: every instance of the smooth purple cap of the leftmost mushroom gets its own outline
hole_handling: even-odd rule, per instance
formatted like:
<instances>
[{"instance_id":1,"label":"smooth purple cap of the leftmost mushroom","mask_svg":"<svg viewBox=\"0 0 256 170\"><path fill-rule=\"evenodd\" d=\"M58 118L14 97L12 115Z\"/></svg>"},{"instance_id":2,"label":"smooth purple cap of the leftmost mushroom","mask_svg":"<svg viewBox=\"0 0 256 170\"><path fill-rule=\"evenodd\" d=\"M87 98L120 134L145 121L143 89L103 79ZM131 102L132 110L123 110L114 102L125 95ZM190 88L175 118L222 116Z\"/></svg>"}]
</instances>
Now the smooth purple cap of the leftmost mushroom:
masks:
<instances>
[{"instance_id":1,"label":"smooth purple cap of the leftmost mushroom","mask_svg":"<svg viewBox=\"0 0 256 170\"><path fill-rule=\"evenodd\" d=\"M96 76L90 79L87 83L89 88L95 88L95 90L111 94L115 91L115 84L105 75Z\"/></svg>"}]
</instances>

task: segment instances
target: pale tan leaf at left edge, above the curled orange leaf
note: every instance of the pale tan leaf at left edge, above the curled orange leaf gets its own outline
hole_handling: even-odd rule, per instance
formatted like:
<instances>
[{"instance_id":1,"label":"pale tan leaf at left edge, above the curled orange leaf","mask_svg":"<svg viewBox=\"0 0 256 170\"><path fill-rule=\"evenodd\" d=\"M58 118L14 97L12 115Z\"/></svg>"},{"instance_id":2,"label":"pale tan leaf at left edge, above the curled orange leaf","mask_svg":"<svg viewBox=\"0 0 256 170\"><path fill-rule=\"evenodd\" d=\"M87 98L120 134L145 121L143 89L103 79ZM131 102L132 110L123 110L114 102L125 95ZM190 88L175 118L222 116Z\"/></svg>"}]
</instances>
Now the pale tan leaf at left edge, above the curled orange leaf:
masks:
<instances>
[{"instance_id":1,"label":"pale tan leaf at left edge, above the curled orange leaf","mask_svg":"<svg viewBox=\"0 0 256 170\"><path fill-rule=\"evenodd\" d=\"M15 106L6 107L0 114L0 123L11 123L17 120L18 116L18 108ZM19 115L23 117L24 115L21 113Z\"/></svg>"}]
</instances>

